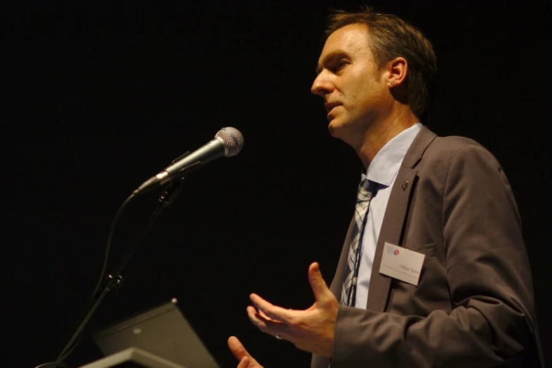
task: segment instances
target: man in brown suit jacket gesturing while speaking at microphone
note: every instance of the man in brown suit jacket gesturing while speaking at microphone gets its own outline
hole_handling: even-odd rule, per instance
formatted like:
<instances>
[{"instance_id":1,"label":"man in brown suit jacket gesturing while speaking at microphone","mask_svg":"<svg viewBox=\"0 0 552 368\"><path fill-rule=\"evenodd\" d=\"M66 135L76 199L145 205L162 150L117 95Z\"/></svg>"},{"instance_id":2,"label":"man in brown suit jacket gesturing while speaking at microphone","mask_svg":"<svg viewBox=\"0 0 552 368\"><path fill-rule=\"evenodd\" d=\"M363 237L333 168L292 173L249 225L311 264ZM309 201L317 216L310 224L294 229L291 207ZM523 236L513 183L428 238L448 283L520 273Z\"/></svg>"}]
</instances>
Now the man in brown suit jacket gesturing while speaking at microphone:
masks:
<instances>
[{"instance_id":1,"label":"man in brown suit jacket gesturing while speaking at microphone","mask_svg":"<svg viewBox=\"0 0 552 368\"><path fill-rule=\"evenodd\" d=\"M355 218L331 288L309 267L312 307L252 294L250 320L313 352L314 368L541 366L520 217L501 166L477 142L419 123L436 69L431 44L370 8L331 16L327 35L312 92L331 135L367 170ZM228 345L239 368L261 367L237 338Z\"/></svg>"}]
</instances>

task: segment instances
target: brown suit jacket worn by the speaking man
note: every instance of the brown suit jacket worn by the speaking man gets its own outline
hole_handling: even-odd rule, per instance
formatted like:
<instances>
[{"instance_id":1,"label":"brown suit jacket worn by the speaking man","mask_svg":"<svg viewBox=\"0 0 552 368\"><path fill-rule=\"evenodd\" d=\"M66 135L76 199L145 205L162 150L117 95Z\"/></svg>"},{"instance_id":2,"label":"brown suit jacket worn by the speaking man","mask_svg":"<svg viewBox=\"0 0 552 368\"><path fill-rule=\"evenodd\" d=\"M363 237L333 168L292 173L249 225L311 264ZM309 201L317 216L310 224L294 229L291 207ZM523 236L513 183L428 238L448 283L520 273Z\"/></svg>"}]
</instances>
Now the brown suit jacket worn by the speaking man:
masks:
<instances>
[{"instance_id":1,"label":"brown suit jacket worn by the speaking man","mask_svg":"<svg viewBox=\"0 0 552 368\"><path fill-rule=\"evenodd\" d=\"M385 242L425 254L418 286L379 273ZM367 309L341 305L335 327L331 368L544 367L517 204L484 147L420 130L391 190ZM329 362L313 355L312 368Z\"/></svg>"}]
</instances>

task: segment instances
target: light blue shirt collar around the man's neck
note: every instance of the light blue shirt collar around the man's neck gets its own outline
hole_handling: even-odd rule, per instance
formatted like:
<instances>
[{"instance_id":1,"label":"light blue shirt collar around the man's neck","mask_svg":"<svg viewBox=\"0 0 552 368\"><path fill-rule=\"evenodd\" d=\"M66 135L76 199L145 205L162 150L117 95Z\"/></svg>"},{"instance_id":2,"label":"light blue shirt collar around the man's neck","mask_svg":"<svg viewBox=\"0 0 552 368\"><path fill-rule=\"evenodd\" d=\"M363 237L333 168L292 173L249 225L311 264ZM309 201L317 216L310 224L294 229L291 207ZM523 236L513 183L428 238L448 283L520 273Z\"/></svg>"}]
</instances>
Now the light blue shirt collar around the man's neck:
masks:
<instances>
[{"instance_id":1,"label":"light blue shirt collar around the man's neck","mask_svg":"<svg viewBox=\"0 0 552 368\"><path fill-rule=\"evenodd\" d=\"M376 157L374 157L368 166L366 173L362 174L362 180L368 178L370 181L387 187L391 185L408 148L412 145L412 141L423 126L422 123L415 123L387 142L376 154Z\"/></svg>"}]
</instances>

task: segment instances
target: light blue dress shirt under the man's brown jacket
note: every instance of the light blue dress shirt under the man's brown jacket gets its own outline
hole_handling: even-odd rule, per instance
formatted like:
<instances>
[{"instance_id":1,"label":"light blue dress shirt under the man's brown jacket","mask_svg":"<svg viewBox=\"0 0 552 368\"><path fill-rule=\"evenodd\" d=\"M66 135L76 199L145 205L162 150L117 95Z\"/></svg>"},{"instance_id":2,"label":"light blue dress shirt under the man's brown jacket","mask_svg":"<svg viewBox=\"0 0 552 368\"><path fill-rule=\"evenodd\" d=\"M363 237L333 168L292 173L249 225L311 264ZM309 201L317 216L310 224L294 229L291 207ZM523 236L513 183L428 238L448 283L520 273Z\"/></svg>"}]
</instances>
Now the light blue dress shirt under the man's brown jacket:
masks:
<instances>
[{"instance_id":1,"label":"light blue dress shirt under the man's brown jacket","mask_svg":"<svg viewBox=\"0 0 552 368\"><path fill-rule=\"evenodd\" d=\"M378 185L374 197L370 201L366 225L362 234L355 298L355 307L357 308L366 309L374 254L376 253L379 231L381 230L381 223L384 221L389 195L391 195L391 188L393 188L393 183L395 183L395 177L397 176L400 164L403 162L408 148L412 145L412 141L419 130L422 129L422 126L421 123L416 123L393 137L376 154L376 157L374 157L368 166L366 174L362 174L362 180L368 178L368 180L376 182Z\"/></svg>"}]
</instances>

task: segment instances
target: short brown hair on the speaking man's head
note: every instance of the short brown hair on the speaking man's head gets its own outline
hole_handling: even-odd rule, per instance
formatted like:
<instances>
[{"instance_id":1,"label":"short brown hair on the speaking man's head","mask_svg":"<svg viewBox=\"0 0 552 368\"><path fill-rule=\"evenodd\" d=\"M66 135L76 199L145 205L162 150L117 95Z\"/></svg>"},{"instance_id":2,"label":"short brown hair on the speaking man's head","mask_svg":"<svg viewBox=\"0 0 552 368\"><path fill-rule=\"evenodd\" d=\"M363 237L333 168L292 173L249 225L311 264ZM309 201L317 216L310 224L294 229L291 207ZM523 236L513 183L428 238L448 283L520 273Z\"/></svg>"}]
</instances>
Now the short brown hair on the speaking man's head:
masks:
<instances>
[{"instance_id":1,"label":"short brown hair on the speaking man's head","mask_svg":"<svg viewBox=\"0 0 552 368\"><path fill-rule=\"evenodd\" d=\"M360 11L336 11L329 16L325 36L345 25L368 26L369 47L379 68L403 56L408 63L408 105L418 117L427 112L431 100L436 59L431 42L422 32L405 20L391 14L376 13L366 6Z\"/></svg>"}]
</instances>

